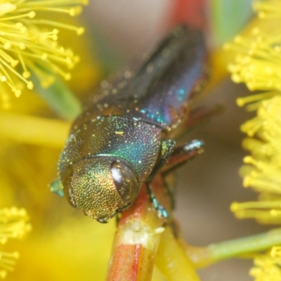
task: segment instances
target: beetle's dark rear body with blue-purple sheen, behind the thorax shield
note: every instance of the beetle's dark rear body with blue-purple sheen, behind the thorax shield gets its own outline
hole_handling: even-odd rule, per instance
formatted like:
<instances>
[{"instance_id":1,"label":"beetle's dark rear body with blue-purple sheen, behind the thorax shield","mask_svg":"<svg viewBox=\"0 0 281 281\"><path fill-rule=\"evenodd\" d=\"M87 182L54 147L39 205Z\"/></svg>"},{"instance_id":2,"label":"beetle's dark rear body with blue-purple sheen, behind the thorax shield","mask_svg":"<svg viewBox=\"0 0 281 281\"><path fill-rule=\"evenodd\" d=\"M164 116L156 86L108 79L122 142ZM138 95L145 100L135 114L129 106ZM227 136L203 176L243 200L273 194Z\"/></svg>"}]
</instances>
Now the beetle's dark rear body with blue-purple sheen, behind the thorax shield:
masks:
<instances>
[{"instance_id":1,"label":"beetle's dark rear body with blue-purple sheen, behind the thorax shield","mask_svg":"<svg viewBox=\"0 0 281 281\"><path fill-rule=\"evenodd\" d=\"M127 116L162 129L176 127L188 109L188 101L207 72L203 34L178 26L143 65L124 70L103 88L93 104L80 115L72 130L97 116Z\"/></svg>"}]
</instances>

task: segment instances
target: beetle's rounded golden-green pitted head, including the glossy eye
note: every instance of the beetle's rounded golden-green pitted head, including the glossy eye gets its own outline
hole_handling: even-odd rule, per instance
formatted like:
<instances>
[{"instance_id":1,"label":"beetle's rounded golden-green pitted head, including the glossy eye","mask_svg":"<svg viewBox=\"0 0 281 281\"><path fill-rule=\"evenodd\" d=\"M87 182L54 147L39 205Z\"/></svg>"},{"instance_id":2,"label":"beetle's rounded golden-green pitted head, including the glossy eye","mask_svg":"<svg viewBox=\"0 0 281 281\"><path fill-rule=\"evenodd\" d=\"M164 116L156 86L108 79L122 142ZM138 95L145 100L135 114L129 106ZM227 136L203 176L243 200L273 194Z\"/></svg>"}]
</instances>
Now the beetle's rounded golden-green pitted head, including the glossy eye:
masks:
<instances>
[{"instance_id":1,"label":"beetle's rounded golden-green pitted head, including the glossy eye","mask_svg":"<svg viewBox=\"0 0 281 281\"><path fill-rule=\"evenodd\" d=\"M63 190L74 208L105 223L136 199L139 183L126 160L98 155L72 163L63 178Z\"/></svg>"}]
</instances>

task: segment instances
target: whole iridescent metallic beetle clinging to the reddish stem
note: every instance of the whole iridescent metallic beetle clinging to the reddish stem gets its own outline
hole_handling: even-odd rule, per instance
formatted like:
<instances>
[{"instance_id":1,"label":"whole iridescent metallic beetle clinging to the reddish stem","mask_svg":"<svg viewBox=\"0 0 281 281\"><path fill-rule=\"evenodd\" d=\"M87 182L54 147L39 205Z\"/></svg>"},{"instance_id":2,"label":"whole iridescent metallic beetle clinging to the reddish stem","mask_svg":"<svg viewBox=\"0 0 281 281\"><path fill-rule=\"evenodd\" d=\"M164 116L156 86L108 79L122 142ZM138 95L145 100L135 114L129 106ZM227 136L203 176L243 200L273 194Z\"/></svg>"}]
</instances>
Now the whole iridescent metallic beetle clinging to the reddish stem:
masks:
<instances>
[{"instance_id":1,"label":"whole iridescent metallic beetle clinging to the reddish stem","mask_svg":"<svg viewBox=\"0 0 281 281\"><path fill-rule=\"evenodd\" d=\"M202 33L178 26L141 65L104 81L72 125L51 189L102 223L129 207L143 183L179 152L170 137L206 79L205 58ZM181 153L201 148L195 141Z\"/></svg>"}]
</instances>

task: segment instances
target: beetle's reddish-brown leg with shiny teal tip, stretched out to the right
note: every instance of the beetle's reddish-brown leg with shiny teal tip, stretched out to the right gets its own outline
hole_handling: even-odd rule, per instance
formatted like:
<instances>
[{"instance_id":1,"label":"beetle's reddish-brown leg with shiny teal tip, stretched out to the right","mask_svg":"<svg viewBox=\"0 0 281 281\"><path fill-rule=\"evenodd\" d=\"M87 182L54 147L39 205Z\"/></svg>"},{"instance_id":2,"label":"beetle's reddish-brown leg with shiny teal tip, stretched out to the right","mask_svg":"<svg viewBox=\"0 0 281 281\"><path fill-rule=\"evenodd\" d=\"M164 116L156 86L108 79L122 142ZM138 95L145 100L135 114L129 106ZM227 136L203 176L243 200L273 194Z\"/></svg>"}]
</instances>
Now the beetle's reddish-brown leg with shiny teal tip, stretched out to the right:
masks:
<instances>
[{"instance_id":1,"label":"beetle's reddish-brown leg with shiny teal tip, stretched out to the right","mask_svg":"<svg viewBox=\"0 0 281 281\"><path fill-rule=\"evenodd\" d=\"M182 164L185 164L188 160L192 159L196 155L199 155L204 151L204 143L202 141L193 140L190 143L185 143L184 145L175 148L169 161L162 169L162 173L168 174L174 169L178 168Z\"/></svg>"}]
</instances>

